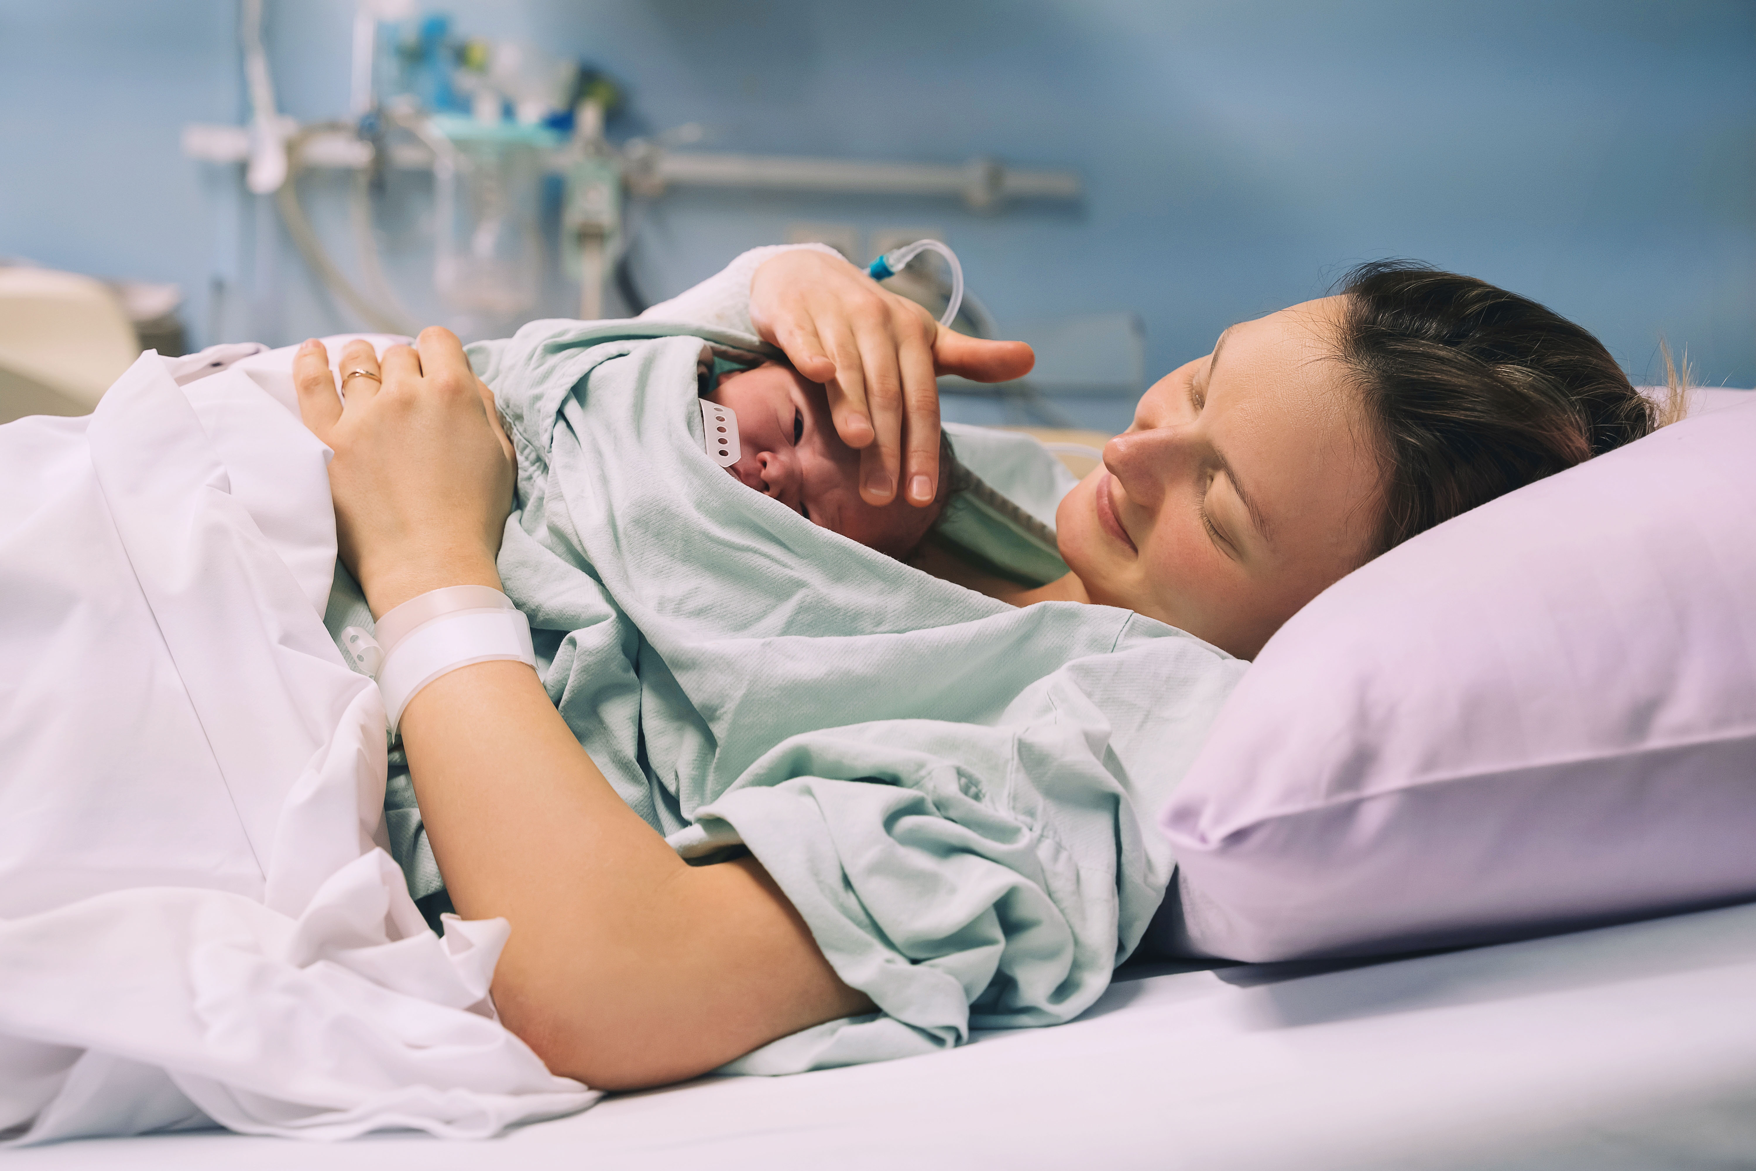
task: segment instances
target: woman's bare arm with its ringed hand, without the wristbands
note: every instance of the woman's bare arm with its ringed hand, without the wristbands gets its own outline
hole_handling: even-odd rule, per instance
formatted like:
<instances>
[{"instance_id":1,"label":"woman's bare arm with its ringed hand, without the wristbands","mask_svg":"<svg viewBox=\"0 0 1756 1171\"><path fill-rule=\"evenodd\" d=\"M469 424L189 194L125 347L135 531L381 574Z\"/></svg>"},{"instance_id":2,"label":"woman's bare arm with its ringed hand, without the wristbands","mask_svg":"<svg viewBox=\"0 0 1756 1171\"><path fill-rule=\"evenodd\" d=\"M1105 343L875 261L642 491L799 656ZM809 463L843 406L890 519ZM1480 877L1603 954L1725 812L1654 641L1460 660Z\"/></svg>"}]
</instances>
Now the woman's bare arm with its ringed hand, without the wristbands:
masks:
<instances>
[{"instance_id":1,"label":"woman's bare arm with its ringed hand, without the wristbands","mask_svg":"<svg viewBox=\"0 0 1756 1171\"><path fill-rule=\"evenodd\" d=\"M295 360L306 423L335 451L342 558L374 614L448 585L499 586L513 456L457 337L385 353L383 386ZM378 370L365 344L342 370ZM629 809L523 664L423 688L402 741L460 913L513 932L493 976L507 1027L555 1073L627 1088L688 1078L869 1011L753 860L690 867Z\"/></svg>"}]
</instances>

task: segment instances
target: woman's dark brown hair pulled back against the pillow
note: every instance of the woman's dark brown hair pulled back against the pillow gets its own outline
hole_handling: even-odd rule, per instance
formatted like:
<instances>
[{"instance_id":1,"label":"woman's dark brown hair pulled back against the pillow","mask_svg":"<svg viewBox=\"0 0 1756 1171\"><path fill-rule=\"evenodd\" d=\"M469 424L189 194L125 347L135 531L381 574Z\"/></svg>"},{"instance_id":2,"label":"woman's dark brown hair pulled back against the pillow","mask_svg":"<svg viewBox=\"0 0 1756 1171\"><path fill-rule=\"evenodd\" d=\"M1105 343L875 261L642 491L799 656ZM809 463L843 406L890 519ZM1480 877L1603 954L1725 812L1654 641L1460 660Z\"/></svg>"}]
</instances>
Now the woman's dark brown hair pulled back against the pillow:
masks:
<instances>
[{"instance_id":1,"label":"woman's dark brown hair pulled back against the pillow","mask_svg":"<svg viewBox=\"0 0 1756 1171\"><path fill-rule=\"evenodd\" d=\"M1596 337L1487 281L1380 260L1340 291L1385 472L1373 553L1668 421Z\"/></svg>"}]
</instances>

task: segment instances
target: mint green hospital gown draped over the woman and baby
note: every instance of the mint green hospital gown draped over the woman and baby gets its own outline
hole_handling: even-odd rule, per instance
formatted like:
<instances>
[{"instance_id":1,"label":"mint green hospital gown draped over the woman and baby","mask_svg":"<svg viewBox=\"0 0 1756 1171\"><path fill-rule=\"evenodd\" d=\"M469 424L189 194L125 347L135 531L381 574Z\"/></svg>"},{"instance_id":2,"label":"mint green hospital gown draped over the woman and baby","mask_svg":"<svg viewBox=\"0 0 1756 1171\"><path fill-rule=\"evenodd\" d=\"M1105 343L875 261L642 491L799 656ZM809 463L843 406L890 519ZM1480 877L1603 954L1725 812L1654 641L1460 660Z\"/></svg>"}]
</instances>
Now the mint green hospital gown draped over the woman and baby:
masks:
<instances>
[{"instance_id":1,"label":"mint green hospital gown draped over the woman and baby","mask_svg":"<svg viewBox=\"0 0 1756 1171\"><path fill-rule=\"evenodd\" d=\"M550 699L657 832L748 846L882 1009L730 1069L1068 1020L1164 895L1152 818L1243 664L1129 611L1015 609L739 485L702 451L699 377L759 346L536 321L469 348L518 453L499 569ZM961 462L1052 520L1052 456L1034 448L1033 499L1029 441L957 434ZM428 894L406 778L392 790Z\"/></svg>"}]
</instances>

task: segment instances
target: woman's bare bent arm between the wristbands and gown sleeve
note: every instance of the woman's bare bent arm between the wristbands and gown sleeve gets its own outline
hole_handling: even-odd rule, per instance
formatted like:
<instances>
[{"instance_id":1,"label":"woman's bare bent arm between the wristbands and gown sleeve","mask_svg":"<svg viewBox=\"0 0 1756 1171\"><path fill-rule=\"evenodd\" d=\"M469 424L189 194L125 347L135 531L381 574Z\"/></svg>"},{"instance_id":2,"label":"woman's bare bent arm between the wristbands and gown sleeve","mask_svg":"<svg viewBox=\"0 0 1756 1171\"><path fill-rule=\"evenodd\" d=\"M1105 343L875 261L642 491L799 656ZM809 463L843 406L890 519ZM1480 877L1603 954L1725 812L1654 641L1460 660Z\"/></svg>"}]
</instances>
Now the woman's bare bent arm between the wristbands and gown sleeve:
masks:
<instances>
[{"instance_id":1,"label":"woman's bare bent arm between the wristbands and gown sleeve","mask_svg":"<svg viewBox=\"0 0 1756 1171\"><path fill-rule=\"evenodd\" d=\"M495 1006L553 1071L658 1085L871 1009L760 866L690 867L629 809L530 667L441 676L402 737L458 913L513 925Z\"/></svg>"}]
</instances>

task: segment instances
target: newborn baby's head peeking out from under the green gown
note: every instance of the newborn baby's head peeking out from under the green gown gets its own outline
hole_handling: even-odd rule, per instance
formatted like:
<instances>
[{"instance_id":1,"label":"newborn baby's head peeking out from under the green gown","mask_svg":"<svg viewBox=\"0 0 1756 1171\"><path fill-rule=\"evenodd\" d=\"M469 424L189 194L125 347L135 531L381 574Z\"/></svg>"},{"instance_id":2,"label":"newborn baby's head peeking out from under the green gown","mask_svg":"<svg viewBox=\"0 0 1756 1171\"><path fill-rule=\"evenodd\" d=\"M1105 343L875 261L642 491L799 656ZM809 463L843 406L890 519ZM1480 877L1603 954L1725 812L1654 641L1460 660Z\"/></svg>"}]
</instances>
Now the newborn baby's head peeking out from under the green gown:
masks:
<instances>
[{"instance_id":1,"label":"newborn baby's head peeking out from under the green gown","mask_svg":"<svg viewBox=\"0 0 1756 1171\"><path fill-rule=\"evenodd\" d=\"M708 399L738 416L743 451L725 471L815 525L901 560L945 509L948 467L939 469L939 495L925 507L903 493L883 507L860 499L860 453L836 434L824 386L790 365L766 362L725 374Z\"/></svg>"}]
</instances>

